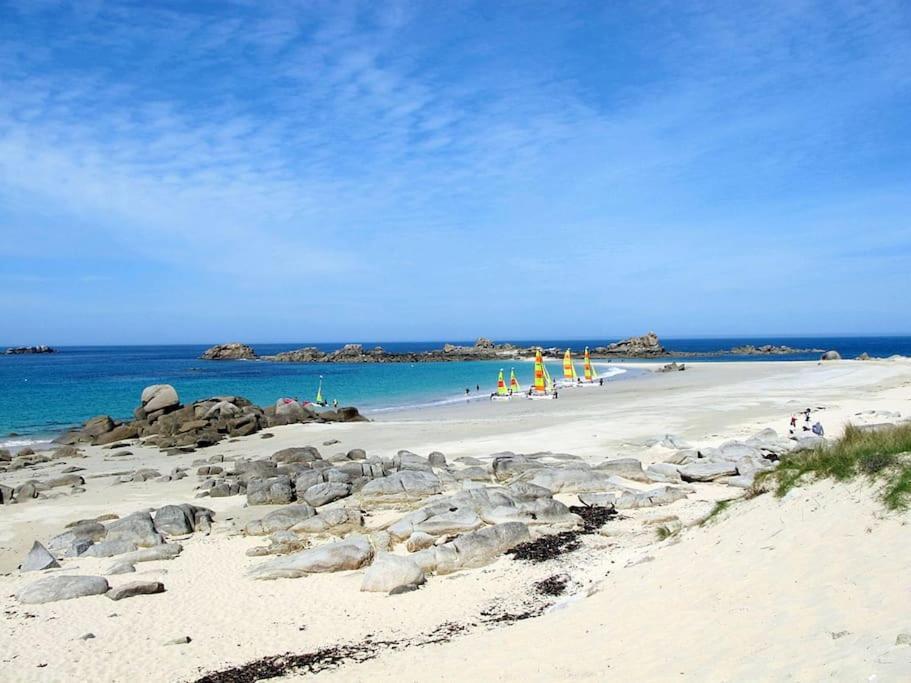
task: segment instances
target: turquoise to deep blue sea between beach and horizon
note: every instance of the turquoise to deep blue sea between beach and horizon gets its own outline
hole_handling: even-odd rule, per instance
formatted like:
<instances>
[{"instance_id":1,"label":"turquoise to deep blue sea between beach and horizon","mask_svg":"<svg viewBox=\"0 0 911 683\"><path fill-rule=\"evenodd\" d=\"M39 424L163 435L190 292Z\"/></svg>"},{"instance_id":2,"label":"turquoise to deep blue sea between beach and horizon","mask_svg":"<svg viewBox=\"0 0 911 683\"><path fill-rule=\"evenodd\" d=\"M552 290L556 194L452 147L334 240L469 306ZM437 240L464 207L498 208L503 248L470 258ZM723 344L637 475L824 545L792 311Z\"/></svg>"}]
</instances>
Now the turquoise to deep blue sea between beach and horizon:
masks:
<instances>
[{"instance_id":1,"label":"turquoise to deep blue sea between beach and horizon","mask_svg":"<svg viewBox=\"0 0 911 683\"><path fill-rule=\"evenodd\" d=\"M581 350L614 340L515 340L544 347ZM472 342L454 342L471 344ZM836 349L845 358L866 351L871 356L911 355L911 337L663 339L668 349L698 353L742 344L787 344L799 348ZM374 342L365 342L371 348ZM388 351L424 351L442 342L380 343ZM302 346L336 349L341 344L254 344L260 355ZM129 418L139 394L149 384L172 384L187 403L209 396L234 394L269 405L283 396L312 400L319 377L323 393L342 405L367 412L396 407L465 400L465 388L486 397L496 386L499 361L390 364L291 364L268 361L203 361L208 345L186 346L71 346L58 353L0 355L0 446L47 438L98 414ZM818 354L793 356L731 355L700 360L812 360ZM578 364L581 369L581 363ZM622 367L622 362L613 365ZM531 379L529 363L514 364L523 386ZM549 363L555 377L559 362ZM508 373L509 366L506 371ZM618 375L622 378L623 375ZM480 386L480 391L476 387ZM21 436L10 436L11 433Z\"/></svg>"}]
</instances>

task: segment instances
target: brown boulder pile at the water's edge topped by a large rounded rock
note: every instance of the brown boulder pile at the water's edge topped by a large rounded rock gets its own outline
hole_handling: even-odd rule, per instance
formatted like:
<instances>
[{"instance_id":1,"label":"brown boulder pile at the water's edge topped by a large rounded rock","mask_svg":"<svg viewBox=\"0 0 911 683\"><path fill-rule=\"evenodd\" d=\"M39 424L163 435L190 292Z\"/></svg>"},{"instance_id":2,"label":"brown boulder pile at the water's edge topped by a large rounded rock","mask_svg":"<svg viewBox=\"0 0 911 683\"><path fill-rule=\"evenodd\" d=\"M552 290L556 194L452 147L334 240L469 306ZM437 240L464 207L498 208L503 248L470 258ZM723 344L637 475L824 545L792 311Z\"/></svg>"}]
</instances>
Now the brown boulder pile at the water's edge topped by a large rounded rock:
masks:
<instances>
[{"instance_id":1,"label":"brown boulder pile at the water's edge topped by a large rounded rock","mask_svg":"<svg viewBox=\"0 0 911 683\"><path fill-rule=\"evenodd\" d=\"M358 422L366 418L357 408L318 409L283 398L260 408L241 396L215 396L182 405L170 384L142 391L135 419L119 422L108 415L88 420L80 429L56 439L57 443L94 445L142 439L161 449L205 448L228 437L246 436L267 427L308 422Z\"/></svg>"}]
</instances>

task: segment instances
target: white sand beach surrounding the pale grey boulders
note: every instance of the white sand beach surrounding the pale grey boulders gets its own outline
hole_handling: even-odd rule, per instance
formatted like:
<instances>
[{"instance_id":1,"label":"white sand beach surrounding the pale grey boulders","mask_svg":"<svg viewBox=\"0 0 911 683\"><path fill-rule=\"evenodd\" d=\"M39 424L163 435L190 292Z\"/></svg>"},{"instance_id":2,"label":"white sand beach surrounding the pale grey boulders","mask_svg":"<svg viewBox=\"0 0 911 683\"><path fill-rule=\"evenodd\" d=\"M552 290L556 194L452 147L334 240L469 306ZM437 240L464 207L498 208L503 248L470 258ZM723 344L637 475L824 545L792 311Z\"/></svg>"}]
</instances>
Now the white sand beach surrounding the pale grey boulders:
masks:
<instances>
[{"instance_id":1,"label":"white sand beach surrounding the pale grey boulders","mask_svg":"<svg viewBox=\"0 0 911 683\"><path fill-rule=\"evenodd\" d=\"M389 596L359 590L364 569L254 580L249 572L270 558L247 556L264 538L242 531L277 506L246 506L243 495L197 498L201 478L192 465L218 455L228 467L232 459L264 459L306 445L324 457L354 448L383 458L400 449L421 456L439 451L450 465L468 457L489 466L490 456L502 451L568 453L591 465L636 458L648 465L675 453L672 442L717 446L767 428L786 436L790 416L806 408L827 436L849 421L911 416L911 360L692 363L685 372L568 389L557 401L467 402L368 423L289 425L269 429L273 438L253 434L174 456L137 444L118 456L88 446L84 458L4 473L0 483L16 486L76 465L86 483L82 493L55 489L0 508L0 678L192 681L271 655L395 641L366 648L366 661L289 676L909 680L911 647L896 639L911 633L911 516L886 512L869 484L826 481L783 499L739 500L744 489L691 483L685 498L623 510L600 532L581 536L581 547L552 560L501 556L483 567L430 575L418 590ZM330 440L337 443L323 445ZM189 468L190 476L113 483L117 473L175 467ZM445 492L459 488L449 482ZM578 505L572 493L555 498ZM732 498L737 502L710 523L698 524L715 501ZM327 507L355 501L356 494ZM361 533L369 536L426 502L361 506L369 512ZM161 581L163 593L116 602L104 595L45 604L16 599L41 574L100 576L117 561L82 556L63 560L60 569L20 573L33 541L47 543L79 519L179 503L212 509L211 532L178 539L183 552L176 559L106 576L115 588ZM674 533L659 540L656 529L668 525ZM536 529L533 536L543 533ZM392 551L408 554L403 544ZM537 595L534 584L554 576L562 577L565 592ZM536 616L516 618L529 611ZM445 642L425 644L440 634L447 634ZM190 642L169 644L184 636Z\"/></svg>"}]
</instances>

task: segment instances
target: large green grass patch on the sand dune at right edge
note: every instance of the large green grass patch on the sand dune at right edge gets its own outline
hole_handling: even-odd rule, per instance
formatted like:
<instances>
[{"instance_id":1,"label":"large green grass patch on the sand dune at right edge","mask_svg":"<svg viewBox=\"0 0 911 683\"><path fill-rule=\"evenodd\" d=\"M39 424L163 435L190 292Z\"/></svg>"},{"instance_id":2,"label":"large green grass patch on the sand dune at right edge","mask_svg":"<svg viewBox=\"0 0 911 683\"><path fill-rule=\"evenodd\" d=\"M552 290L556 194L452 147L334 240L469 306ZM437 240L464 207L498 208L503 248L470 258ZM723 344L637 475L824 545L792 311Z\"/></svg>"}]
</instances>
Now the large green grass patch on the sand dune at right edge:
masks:
<instances>
[{"instance_id":1,"label":"large green grass patch on the sand dune at right edge","mask_svg":"<svg viewBox=\"0 0 911 683\"><path fill-rule=\"evenodd\" d=\"M778 496L805 478L848 481L864 476L883 483L883 504L894 511L911 505L911 424L864 430L849 424L832 443L781 458L778 468L765 473Z\"/></svg>"}]
</instances>

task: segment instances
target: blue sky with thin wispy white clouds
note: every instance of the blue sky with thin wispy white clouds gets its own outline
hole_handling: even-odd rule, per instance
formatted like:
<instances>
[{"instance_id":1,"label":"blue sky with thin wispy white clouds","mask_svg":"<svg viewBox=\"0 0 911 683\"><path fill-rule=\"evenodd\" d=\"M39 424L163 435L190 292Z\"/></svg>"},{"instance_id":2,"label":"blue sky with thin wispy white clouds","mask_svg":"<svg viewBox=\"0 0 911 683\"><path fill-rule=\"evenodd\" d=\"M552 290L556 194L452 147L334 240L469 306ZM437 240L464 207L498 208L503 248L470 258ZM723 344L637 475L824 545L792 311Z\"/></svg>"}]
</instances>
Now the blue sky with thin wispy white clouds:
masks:
<instances>
[{"instance_id":1,"label":"blue sky with thin wispy white clouds","mask_svg":"<svg viewBox=\"0 0 911 683\"><path fill-rule=\"evenodd\" d=\"M0 0L0 341L911 332L911 5Z\"/></svg>"}]
</instances>

